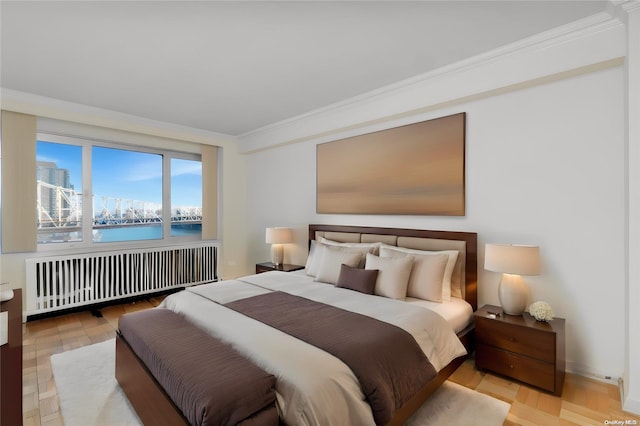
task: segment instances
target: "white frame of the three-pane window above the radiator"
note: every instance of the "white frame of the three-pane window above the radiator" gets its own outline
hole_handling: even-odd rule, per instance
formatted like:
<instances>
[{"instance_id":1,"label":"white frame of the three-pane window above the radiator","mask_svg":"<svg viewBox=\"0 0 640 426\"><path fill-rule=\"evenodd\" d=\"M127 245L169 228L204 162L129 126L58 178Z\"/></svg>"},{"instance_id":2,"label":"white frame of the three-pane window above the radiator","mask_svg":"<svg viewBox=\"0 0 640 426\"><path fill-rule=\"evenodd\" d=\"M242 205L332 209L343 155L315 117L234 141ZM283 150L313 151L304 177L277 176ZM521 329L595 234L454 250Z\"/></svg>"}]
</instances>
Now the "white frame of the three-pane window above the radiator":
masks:
<instances>
[{"instance_id":1,"label":"white frame of the three-pane window above the radiator","mask_svg":"<svg viewBox=\"0 0 640 426\"><path fill-rule=\"evenodd\" d=\"M82 241L67 243L37 243L38 252L64 252L77 249L85 251L105 251L113 249L162 247L184 242L202 241L202 234L171 236L171 159L178 158L202 162L202 155L170 149L105 141L81 136L67 136L39 131L38 141L80 146L82 148ZM125 151L157 154L162 157L162 238L114 242L94 242L93 235L93 187L92 187L92 147L104 147ZM37 155L37 146L36 146ZM37 160L36 160L37 161ZM167 208L168 207L168 208ZM34 206L36 208L36 206ZM37 231L36 231L37 232Z\"/></svg>"}]
</instances>

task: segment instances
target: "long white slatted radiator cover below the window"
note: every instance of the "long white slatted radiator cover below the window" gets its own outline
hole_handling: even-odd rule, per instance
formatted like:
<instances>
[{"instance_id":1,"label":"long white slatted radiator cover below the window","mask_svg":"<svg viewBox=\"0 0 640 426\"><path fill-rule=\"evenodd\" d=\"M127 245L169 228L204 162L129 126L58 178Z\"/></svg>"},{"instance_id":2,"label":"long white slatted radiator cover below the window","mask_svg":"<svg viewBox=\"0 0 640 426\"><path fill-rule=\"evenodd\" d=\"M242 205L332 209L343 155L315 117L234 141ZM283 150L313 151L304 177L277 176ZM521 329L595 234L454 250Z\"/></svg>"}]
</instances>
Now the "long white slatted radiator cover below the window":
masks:
<instances>
[{"instance_id":1,"label":"long white slatted radiator cover below the window","mask_svg":"<svg viewBox=\"0 0 640 426\"><path fill-rule=\"evenodd\" d=\"M26 260L27 316L218 280L216 245Z\"/></svg>"}]
</instances>

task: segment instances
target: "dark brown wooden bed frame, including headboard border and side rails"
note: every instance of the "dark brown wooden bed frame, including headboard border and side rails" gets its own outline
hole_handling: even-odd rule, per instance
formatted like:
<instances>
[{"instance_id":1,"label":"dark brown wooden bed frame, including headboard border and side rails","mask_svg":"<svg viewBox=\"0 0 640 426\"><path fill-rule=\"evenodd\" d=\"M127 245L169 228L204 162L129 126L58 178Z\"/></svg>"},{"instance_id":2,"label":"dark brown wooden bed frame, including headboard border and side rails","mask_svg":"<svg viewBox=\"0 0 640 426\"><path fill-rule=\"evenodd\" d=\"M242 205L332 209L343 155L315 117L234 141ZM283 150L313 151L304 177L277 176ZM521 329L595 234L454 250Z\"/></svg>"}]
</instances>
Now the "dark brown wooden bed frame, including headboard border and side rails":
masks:
<instances>
[{"instance_id":1,"label":"dark brown wooden bed frame, including headboard border and side rails","mask_svg":"<svg viewBox=\"0 0 640 426\"><path fill-rule=\"evenodd\" d=\"M477 310L477 234L472 232L428 231L398 228L377 228L342 225L309 225L309 241L320 233L360 233L380 236L402 236L454 240L466 243L465 300ZM335 235L335 234L333 234ZM458 337L469 353L473 350L473 324L458 333ZM402 425L431 396L431 394L464 362L466 356L456 358L423 387L394 415L389 425ZM187 425L180 410L154 379L144 363L133 352L126 340L118 333L116 337L116 379L129 402L144 424Z\"/></svg>"}]
</instances>

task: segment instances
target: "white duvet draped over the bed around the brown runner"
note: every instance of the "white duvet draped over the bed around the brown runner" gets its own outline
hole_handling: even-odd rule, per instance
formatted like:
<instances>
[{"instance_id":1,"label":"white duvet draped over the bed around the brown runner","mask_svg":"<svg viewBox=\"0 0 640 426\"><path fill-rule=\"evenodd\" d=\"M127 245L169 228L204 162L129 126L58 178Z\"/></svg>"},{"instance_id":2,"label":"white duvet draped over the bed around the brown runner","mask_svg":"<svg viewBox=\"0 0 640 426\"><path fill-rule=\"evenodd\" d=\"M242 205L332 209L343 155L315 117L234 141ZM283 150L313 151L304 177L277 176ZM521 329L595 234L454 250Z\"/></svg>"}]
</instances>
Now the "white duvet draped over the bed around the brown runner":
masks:
<instances>
[{"instance_id":1,"label":"white duvet draped over the bed around the brown runner","mask_svg":"<svg viewBox=\"0 0 640 426\"><path fill-rule=\"evenodd\" d=\"M414 336L438 371L466 353L451 326L433 311L314 282L302 274L268 272L191 287L167 297L162 307L182 313L276 376L277 406L287 424L373 425L374 421L356 377L342 361L218 304L274 290L403 328Z\"/></svg>"}]
</instances>

